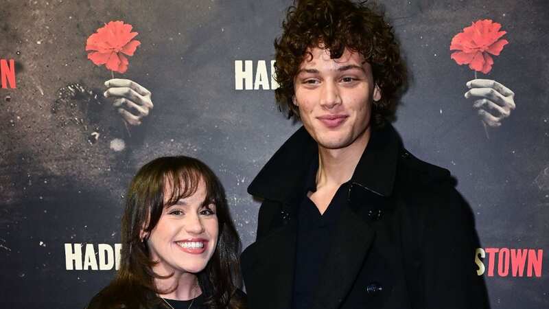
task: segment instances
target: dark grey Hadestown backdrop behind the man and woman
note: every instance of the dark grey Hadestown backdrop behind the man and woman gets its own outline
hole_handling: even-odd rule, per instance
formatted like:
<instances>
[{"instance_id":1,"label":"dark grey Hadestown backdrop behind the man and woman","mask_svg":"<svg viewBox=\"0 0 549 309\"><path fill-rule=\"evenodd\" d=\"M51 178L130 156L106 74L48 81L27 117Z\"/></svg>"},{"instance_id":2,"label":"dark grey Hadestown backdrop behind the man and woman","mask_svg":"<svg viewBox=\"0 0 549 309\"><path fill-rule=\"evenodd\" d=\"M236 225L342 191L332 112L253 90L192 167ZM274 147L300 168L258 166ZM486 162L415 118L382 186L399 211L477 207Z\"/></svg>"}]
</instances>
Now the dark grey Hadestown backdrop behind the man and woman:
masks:
<instances>
[{"instance_id":1,"label":"dark grey Hadestown backdrop behind the man and woman","mask_svg":"<svg viewBox=\"0 0 549 309\"><path fill-rule=\"evenodd\" d=\"M155 157L210 165L244 247L253 242L259 204L246 187L300 125L277 111L272 91L272 42L290 3L1 1L1 308L83 308L108 284L126 187ZM493 308L547 308L549 3L380 3L412 72L395 126L410 152L458 179L482 242L471 260ZM515 93L498 128L484 128L464 97L474 71L450 58L452 38L481 19L500 23L509 41L478 73ZM124 73L85 50L110 21L132 25L141 43ZM102 96L111 76L151 91L141 125L126 126Z\"/></svg>"}]
</instances>

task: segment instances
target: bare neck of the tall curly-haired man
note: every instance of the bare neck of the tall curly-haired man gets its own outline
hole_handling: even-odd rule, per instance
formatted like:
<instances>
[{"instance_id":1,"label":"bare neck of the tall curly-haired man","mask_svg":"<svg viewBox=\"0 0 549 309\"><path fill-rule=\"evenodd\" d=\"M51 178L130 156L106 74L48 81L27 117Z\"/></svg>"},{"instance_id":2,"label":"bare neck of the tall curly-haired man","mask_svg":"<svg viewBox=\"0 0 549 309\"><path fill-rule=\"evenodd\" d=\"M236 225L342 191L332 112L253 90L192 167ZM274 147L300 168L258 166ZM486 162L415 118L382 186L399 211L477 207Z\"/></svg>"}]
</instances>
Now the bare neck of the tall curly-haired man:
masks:
<instances>
[{"instance_id":1,"label":"bare neck of the tall curly-haired man","mask_svg":"<svg viewBox=\"0 0 549 309\"><path fill-rule=\"evenodd\" d=\"M371 136L368 128L345 148L327 149L318 145L316 186L339 187L351 179Z\"/></svg>"}]
</instances>

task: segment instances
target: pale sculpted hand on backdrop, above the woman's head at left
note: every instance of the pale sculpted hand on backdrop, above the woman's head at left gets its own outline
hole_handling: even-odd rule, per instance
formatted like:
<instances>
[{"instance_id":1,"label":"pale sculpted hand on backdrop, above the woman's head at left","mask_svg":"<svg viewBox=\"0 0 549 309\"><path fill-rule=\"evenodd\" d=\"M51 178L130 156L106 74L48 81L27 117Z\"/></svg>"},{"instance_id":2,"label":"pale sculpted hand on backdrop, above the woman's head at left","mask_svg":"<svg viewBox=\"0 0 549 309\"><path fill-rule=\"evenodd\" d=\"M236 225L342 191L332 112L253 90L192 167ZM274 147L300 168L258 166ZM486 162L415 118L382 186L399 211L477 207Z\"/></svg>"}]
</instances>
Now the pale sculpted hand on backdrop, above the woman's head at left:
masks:
<instances>
[{"instance_id":1,"label":"pale sculpted hand on backdrop, above the woman's head at left","mask_svg":"<svg viewBox=\"0 0 549 309\"><path fill-rule=\"evenodd\" d=\"M150 91L137 82L113 78L105 82L105 87L107 87L104 93L105 98L116 98L113 105L118 107L118 113L132 126L139 126L141 119L149 115L152 110ZM130 113L130 110L134 113Z\"/></svg>"}]
</instances>

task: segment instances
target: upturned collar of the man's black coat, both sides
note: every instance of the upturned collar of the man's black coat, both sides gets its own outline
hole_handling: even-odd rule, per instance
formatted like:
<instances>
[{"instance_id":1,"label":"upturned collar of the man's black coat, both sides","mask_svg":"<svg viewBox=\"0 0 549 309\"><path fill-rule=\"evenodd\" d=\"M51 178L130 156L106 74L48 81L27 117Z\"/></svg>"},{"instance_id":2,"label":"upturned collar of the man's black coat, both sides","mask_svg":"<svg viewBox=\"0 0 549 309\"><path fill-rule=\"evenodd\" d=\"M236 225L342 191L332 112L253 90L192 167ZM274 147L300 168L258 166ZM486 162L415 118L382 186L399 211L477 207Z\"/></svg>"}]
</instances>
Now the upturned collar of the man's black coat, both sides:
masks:
<instances>
[{"instance_id":1,"label":"upturned collar of the man's black coat, both sides","mask_svg":"<svg viewBox=\"0 0 549 309\"><path fill-rule=\"evenodd\" d=\"M390 196L395 185L401 139L392 125L372 130L351 183L380 196ZM286 141L248 187L260 198L288 203L303 187L309 166L318 157L316 141L303 126Z\"/></svg>"}]
</instances>

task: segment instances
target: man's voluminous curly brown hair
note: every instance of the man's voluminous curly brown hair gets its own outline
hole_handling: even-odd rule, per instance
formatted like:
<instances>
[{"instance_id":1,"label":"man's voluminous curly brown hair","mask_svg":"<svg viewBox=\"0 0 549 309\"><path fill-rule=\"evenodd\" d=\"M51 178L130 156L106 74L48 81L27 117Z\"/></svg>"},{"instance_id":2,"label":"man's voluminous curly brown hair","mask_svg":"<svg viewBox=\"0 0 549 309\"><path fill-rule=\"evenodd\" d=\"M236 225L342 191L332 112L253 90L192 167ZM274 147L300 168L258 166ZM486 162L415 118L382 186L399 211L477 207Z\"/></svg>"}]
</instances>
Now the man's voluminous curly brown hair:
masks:
<instances>
[{"instance_id":1,"label":"man's voluminous curly brown hair","mask_svg":"<svg viewBox=\"0 0 549 309\"><path fill-rule=\"evenodd\" d=\"M294 78L309 48L328 49L330 58L340 58L347 48L358 52L372 67L373 80L382 99L373 102L375 127L395 119L399 96L406 84L406 66L399 43L377 5L366 1L299 0L288 8L282 23L283 34L274 40L274 71L279 88L275 90L279 110L288 118L299 119L292 102Z\"/></svg>"}]
</instances>

